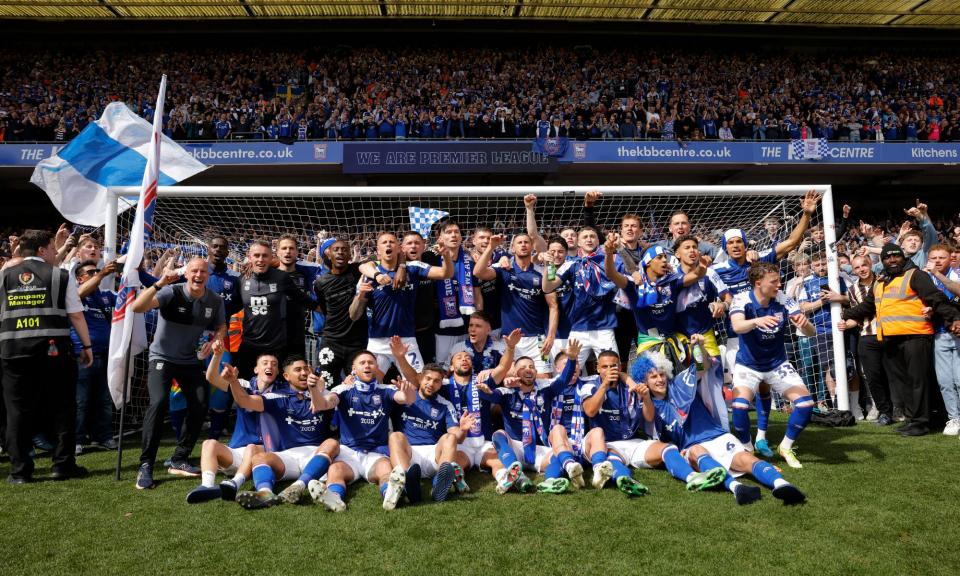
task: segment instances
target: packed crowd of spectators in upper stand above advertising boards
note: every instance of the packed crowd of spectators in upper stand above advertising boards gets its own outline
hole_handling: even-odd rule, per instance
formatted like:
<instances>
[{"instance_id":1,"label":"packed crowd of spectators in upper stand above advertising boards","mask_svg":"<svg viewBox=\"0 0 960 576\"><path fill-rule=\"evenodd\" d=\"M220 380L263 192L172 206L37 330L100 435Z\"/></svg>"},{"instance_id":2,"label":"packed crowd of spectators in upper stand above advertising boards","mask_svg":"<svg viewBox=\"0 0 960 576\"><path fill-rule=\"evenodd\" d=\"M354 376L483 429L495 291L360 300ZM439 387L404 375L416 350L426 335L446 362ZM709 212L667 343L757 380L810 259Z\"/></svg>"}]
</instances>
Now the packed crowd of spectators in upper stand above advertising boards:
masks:
<instances>
[{"instance_id":1,"label":"packed crowd of spectators in upper stand above advertising boards","mask_svg":"<svg viewBox=\"0 0 960 576\"><path fill-rule=\"evenodd\" d=\"M65 141L114 100L176 140L960 139L960 60L723 48L0 51L0 142Z\"/></svg>"}]
</instances>

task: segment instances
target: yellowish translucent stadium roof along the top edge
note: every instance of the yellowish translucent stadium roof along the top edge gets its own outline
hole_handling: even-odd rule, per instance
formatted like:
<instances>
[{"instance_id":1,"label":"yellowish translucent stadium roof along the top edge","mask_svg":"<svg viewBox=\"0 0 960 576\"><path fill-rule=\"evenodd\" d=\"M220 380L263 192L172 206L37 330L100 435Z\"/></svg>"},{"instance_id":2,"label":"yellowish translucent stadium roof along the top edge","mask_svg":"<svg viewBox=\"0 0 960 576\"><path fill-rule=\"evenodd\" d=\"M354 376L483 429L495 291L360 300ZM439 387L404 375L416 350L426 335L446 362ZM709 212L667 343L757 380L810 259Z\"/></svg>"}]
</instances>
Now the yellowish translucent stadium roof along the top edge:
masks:
<instances>
[{"instance_id":1,"label":"yellowish translucent stadium roof along the top edge","mask_svg":"<svg viewBox=\"0 0 960 576\"><path fill-rule=\"evenodd\" d=\"M960 0L0 0L37 20L456 18L960 27Z\"/></svg>"}]
</instances>

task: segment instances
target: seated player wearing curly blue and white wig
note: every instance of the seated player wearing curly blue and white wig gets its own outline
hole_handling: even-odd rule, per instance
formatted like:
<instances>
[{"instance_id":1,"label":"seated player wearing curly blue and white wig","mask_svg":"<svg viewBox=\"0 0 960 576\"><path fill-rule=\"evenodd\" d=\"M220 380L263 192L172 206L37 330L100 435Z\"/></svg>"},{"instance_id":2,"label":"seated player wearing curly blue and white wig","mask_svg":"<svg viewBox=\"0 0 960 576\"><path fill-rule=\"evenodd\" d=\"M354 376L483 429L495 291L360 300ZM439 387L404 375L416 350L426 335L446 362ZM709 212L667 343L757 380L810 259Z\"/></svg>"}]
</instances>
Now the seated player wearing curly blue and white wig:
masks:
<instances>
[{"instance_id":1,"label":"seated player wearing curly blue and white wig","mask_svg":"<svg viewBox=\"0 0 960 576\"><path fill-rule=\"evenodd\" d=\"M703 336L691 337L691 344L703 346ZM716 362L705 348L702 358ZM806 499L803 492L784 480L777 469L753 455L734 435L725 432L704 405L699 391L693 392L693 401L682 411L673 401L674 386L670 381L672 366L662 354L646 352L632 367L640 378L638 393L643 399L644 420L655 425L661 439L669 440L683 450L690 463L701 471L721 470L724 487L733 493L737 504L744 505L760 499L760 489L736 480L742 474L751 474L761 484L771 488L775 498L784 504L799 504ZM707 368L709 369L709 368ZM705 374L699 373L700 381Z\"/></svg>"}]
</instances>

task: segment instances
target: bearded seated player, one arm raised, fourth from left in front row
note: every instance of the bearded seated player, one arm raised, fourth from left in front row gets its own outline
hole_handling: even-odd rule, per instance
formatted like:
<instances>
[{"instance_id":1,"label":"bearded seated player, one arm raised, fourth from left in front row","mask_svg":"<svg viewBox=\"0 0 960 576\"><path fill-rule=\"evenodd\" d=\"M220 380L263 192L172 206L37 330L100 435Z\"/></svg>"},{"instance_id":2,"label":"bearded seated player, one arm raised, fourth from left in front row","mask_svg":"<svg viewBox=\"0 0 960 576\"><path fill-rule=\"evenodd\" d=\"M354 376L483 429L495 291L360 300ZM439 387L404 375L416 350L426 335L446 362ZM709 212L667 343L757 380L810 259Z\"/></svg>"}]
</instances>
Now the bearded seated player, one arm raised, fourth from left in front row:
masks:
<instances>
[{"instance_id":1,"label":"bearded seated player, one arm raised, fourth from left in front row","mask_svg":"<svg viewBox=\"0 0 960 576\"><path fill-rule=\"evenodd\" d=\"M400 430L390 434L390 463L394 471L404 472L410 479L405 486L411 503L420 500L421 475L433 479L432 497L436 502L447 499L450 488L469 491L464 481L464 468L470 467L467 455L457 450L476 419L469 412L462 415L449 400L440 396L447 371L436 363L427 364L417 373L407 362L407 346L399 337L390 339L393 357L404 378L417 388L413 404L400 409Z\"/></svg>"}]
</instances>

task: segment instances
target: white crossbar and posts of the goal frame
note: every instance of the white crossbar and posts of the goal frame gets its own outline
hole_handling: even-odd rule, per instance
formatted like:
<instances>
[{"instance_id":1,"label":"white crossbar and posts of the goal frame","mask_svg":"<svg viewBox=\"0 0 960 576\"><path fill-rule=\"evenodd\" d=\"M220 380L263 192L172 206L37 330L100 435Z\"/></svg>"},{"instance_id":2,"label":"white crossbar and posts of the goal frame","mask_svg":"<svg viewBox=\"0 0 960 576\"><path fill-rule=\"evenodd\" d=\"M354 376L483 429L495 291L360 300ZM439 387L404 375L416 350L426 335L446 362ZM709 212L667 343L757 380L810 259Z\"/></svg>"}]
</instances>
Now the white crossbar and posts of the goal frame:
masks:
<instances>
[{"instance_id":1,"label":"white crossbar and posts of the goal frame","mask_svg":"<svg viewBox=\"0 0 960 576\"><path fill-rule=\"evenodd\" d=\"M840 267L836 253L836 222L833 211L833 188L829 184L817 185L751 185L751 186L160 186L159 198L225 197L225 196L315 196L322 197L377 197L377 196L490 196L522 197L536 194L538 197L582 196L588 190L602 193L635 196L659 196L665 192L691 196L789 196L799 197L808 190L816 190L821 199L824 242L827 256L827 279L830 289L840 291ZM104 227L104 259L112 259L117 250L118 205L121 199L134 198L140 193L137 186L110 189L112 200L107 202L107 217ZM131 203L136 205L136 200ZM833 333L834 381L836 383L837 407L849 410L847 394L846 355L840 322L840 304L830 304L831 331Z\"/></svg>"}]
</instances>

